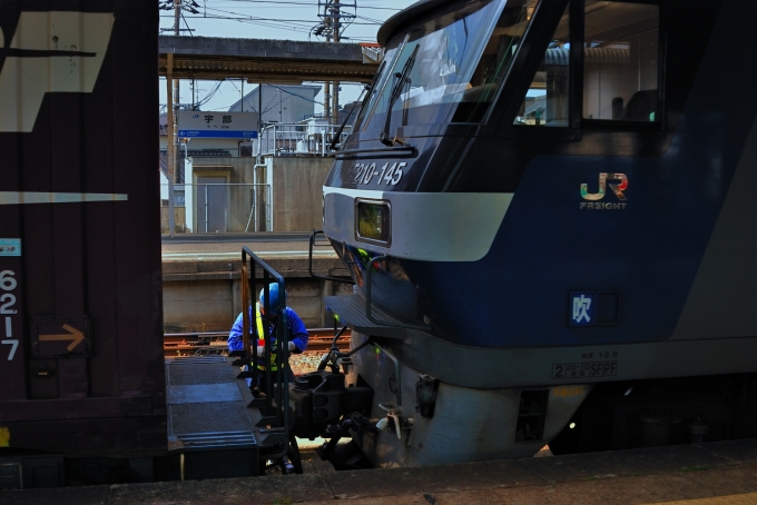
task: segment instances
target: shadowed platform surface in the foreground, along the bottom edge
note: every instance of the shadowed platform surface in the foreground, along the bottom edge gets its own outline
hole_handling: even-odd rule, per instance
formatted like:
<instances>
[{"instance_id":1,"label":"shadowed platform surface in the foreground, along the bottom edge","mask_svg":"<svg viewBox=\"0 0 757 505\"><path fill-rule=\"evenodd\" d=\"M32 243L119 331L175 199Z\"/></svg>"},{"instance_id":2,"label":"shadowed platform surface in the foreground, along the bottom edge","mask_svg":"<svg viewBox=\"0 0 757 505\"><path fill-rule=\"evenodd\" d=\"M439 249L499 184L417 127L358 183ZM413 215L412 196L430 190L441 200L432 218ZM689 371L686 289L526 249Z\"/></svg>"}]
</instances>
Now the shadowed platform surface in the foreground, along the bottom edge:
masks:
<instances>
[{"instance_id":1,"label":"shadowed platform surface in the foreground, along the bottom edge","mask_svg":"<svg viewBox=\"0 0 757 505\"><path fill-rule=\"evenodd\" d=\"M423 468L0 492L3 505L336 499L367 505L755 504L757 439Z\"/></svg>"}]
</instances>

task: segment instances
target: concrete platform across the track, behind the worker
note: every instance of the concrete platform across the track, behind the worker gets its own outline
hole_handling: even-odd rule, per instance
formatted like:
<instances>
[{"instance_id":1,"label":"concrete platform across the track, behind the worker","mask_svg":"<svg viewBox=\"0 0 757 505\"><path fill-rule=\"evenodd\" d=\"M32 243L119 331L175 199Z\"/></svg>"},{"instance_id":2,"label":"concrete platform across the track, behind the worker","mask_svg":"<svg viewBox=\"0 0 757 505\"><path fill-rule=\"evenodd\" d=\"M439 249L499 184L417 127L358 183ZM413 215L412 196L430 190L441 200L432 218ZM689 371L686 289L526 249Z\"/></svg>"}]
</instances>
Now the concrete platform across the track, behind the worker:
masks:
<instances>
[{"instance_id":1,"label":"concrete platform across the track, behind the worker","mask_svg":"<svg viewBox=\"0 0 757 505\"><path fill-rule=\"evenodd\" d=\"M350 294L352 287L311 277L307 271L309 234L186 236L163 239L166 333L228 330L242 310L243 246L285 277L287 305L306 326L331 326L324 298ZM313 249L313 271L348 279L347 270L323 236Z\"/></svg>"}]
</instances>

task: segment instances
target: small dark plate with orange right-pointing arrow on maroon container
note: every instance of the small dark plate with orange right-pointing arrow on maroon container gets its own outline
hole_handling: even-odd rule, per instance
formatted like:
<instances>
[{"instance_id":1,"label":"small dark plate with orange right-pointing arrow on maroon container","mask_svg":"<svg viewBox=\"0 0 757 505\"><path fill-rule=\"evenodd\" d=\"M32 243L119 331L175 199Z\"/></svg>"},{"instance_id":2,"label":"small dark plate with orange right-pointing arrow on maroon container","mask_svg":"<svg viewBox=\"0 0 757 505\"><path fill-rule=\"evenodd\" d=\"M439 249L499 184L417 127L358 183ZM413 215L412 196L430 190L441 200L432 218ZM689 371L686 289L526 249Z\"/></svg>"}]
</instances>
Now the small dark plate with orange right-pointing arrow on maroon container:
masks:
<instances>
[{"instance_id":1,"label":"small dark plate with orange right-pointing arrow on maroon container","mask_svg":"<svg viewBox=\"0 0 757 505\"><path fill-rule=\"evenodd\" d=\"M30 335L31 354L36 357L89 357L90 330L87 316L35 317Z\"/></svg>"}]
</instances>

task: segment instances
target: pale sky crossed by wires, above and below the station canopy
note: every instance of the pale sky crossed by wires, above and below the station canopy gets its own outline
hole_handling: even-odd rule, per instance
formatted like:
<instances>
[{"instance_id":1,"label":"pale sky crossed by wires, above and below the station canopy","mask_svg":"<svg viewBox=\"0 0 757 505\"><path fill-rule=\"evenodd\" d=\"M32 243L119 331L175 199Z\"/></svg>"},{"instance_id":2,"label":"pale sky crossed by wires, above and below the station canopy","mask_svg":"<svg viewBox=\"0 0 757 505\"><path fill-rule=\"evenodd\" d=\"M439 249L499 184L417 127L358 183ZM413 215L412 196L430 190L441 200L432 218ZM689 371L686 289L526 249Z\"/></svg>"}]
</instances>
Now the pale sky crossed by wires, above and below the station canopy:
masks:
<instances>
[{"instance_id":1,"label":"pale sky crossed by wires, above and below the station canopy","mask_svg":"<svg viewBox=\"0 0 757 505\"><path fill-rule=\"evenodd\" d=\"M165 0L160 0L161 2ZM312 40L325 41L311 33L321 22L318 18L318 0L194 0L198 14L184 11L180 28L194 31L183 31L184 37L228 37L249 39L281 39L281 40ZM356 18L345 28L342 37L352 42L375 42L376 32L383 21L401 9L415 3L416 0L342 0L342 3L357 4ZM191 6L193 0L183 0L185 6ZM169 0L169 3L173 1ZM354 9L343 8L343 12L354 12ZM224 19L225 18L225 19ZM163 33L173 34L174 11L160 11L160 29ZM191 33L191 34L190 34ZM197 100L205 99L216 87L217 81L196 81L195 96ZM257 85L244 85L245 95ZM160 79L160 103L166 103L166 80ZM342 83L340 103L357 99L362 85ZM239 100L242 81L235 79L220 85L201 110L227 110ZM315 97L315 112L323 112L323 91ZM191 102L190 81L181 80L180 102ZM165 111L165 108L161 108Z\"/></svg>"}]
</instances>

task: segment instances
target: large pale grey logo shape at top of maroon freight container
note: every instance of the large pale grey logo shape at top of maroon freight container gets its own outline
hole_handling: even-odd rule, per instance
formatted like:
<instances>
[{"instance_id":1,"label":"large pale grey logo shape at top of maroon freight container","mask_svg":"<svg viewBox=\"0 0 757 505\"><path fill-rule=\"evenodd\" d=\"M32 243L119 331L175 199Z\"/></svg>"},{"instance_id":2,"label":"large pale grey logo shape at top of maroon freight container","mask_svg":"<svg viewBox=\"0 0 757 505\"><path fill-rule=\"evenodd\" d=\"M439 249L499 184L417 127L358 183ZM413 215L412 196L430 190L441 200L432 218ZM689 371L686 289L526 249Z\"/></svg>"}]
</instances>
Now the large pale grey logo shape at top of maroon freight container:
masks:
<instances>
[{"instance_id":1,"label":"large pale grey logo shape at top of maroon freight container","mask_svg":"<svg viewBox=\"0 0 757 505\"><path fill-rule=\"evenodd\" d=\"M21 12L8 48L0 30L0 133L31 131L45 93L91 93L112 24L110 12Z\"/></svg>"}]
</instances>

